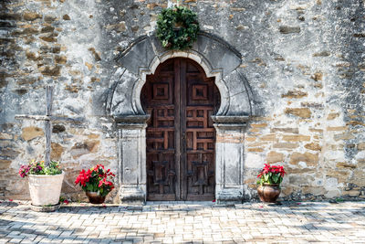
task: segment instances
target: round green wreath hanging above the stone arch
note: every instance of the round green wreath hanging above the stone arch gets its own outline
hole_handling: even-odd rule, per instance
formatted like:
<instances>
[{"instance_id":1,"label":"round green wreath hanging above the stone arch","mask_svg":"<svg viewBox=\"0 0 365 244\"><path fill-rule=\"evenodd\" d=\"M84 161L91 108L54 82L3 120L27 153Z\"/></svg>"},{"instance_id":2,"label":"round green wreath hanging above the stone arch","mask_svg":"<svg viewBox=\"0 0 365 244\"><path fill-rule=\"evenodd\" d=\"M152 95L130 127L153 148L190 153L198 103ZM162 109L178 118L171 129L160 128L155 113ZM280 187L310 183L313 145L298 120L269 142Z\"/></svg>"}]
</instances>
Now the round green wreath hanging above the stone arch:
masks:
<instances>
[{"instance_id":1,"label":"round green wreath hanging above the stone arch","mask_svg":"<svg viewBox=\"0 0 365 244\"><path fill-rule=\"evenodd\" d=\"M156 35L163 48L192 48L199 31L196 14L183 6L165 8L158 16Z\"/></svg>"}]
</instances>

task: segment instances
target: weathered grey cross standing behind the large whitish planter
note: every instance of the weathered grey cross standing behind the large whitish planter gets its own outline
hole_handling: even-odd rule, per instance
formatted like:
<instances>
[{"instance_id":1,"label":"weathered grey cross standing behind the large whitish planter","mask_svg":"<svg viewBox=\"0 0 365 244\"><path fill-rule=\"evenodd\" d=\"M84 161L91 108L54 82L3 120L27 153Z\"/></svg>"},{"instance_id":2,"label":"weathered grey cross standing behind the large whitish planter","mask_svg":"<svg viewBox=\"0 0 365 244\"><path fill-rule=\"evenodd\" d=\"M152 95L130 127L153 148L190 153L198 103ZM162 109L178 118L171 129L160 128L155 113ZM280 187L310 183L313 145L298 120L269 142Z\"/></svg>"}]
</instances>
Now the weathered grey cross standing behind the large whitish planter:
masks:
<instances>
[{"instance_id":1,"label":"weathered grey cross standing behind the large whitish planter","mask_svg":"<svg viewBox=\"0 0 365 244\"><path fill-rule=\"evenodd\" d=\"M35 120L45 122L45 136L46 136L46 150L45 150L45 164L48 165L51 161L51 133L52 133L52 94L53 87L46 87L46 115L26 115L19 114L16 115L16 119L23 120Z\"/></svg>"}]
</instances>

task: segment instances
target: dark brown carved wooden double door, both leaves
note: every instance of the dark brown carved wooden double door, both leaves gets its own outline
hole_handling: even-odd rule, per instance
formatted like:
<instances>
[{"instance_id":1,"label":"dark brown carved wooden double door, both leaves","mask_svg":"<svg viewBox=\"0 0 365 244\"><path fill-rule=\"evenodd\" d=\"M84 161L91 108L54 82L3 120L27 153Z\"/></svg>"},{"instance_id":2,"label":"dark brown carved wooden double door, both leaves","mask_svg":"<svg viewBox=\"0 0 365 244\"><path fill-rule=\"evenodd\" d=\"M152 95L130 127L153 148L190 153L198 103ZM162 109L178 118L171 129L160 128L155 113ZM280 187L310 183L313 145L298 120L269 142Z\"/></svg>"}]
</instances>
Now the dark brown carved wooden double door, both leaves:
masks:
<instances>
[{"instance_id":1,"label":"dark brown carved wooden double door, both leaves","mask_svg":"<svg viewBox=\"0 0 365 244\"><path fill-rule=\"evenodd\" d=\"M219 108L214 79L188 58L163 62L141 92L146 129L147 199L214 199L215 130Z\"/></svg>"}]
</instances>

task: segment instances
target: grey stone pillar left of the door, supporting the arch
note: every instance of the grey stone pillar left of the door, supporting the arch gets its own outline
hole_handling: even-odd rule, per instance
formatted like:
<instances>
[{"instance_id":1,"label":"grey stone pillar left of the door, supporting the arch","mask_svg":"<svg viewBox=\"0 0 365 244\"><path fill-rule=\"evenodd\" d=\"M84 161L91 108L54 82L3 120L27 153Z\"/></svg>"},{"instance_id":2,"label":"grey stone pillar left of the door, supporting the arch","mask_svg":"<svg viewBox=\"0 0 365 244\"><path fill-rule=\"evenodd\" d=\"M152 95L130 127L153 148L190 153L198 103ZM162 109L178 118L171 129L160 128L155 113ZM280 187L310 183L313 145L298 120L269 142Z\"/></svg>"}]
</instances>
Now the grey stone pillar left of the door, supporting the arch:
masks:
<instances>
[{"instance_id":1,"label":"grey stone pillar left of the door, supporting the arch","mask_svg":"<svg viewBox=\"0 0 365 244\"><path fill-rule=\"evenodd\" d=\"M146 202L146 127L149 115L116 118L122 203Z\"/></svg>"}]
</instances>

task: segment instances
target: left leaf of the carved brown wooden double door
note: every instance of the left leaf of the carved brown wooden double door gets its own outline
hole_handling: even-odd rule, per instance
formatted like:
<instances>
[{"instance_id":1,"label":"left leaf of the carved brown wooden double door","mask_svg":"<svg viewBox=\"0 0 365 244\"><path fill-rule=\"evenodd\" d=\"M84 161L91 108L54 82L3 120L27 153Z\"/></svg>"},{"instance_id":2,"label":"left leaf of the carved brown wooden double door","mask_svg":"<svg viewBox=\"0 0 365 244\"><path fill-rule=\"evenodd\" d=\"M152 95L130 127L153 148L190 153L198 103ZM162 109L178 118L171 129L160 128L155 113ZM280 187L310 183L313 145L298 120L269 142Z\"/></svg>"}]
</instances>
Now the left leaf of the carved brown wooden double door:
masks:
<instances>
[{"instance_id":1,"label":"left leaf of the carved brown wooden double door","mask_svg":"<svg viewBox=\"0 0 365 244\"><path fill-rule=\"evenodd\" d=\"M146 129L147 191L149 200L175 200L175 101L173 63L149 76L141 92L151 114Z\"/></svg>"}]
</instances>

